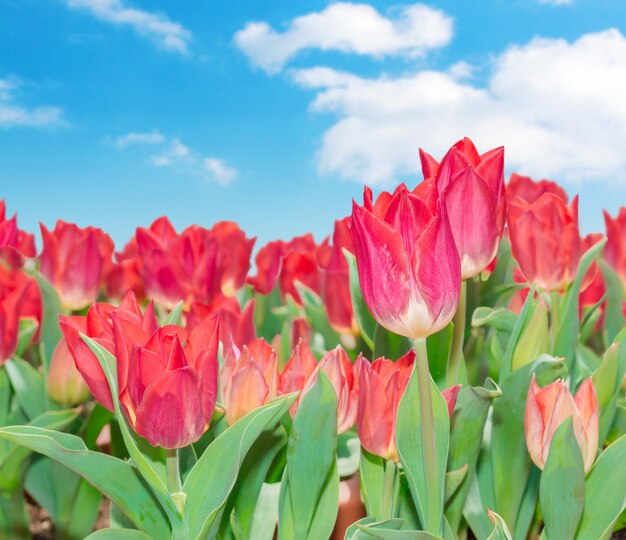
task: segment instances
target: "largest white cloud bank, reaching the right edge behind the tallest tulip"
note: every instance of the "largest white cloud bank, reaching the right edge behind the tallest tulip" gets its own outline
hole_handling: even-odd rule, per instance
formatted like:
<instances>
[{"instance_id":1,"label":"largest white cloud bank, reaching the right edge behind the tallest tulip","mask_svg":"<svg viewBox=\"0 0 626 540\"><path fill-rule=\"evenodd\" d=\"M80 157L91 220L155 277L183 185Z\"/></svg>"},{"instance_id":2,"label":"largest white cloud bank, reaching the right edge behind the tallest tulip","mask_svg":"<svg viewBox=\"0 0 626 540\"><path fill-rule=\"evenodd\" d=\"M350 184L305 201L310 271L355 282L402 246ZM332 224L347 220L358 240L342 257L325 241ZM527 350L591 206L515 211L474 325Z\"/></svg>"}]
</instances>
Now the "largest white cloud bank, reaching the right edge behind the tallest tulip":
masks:
<instances>
[{"instance_id":1,"label":"largest white cloud bank, reaching the right edge behind the tallest tulip","mask_svg":"<svg viewBox=\"0 0 626 540\"><path fill-rule=\"evenodd\" d=\"M319 151L323 173L385 184L418 175L418 147L440 157L464 135L506 147L510 169L556 180L626 182L626 38L533 39L495 56L484 84L466 67L367 79L330 68L294 72L335 114Z\"/></svg>"}]
</instances>

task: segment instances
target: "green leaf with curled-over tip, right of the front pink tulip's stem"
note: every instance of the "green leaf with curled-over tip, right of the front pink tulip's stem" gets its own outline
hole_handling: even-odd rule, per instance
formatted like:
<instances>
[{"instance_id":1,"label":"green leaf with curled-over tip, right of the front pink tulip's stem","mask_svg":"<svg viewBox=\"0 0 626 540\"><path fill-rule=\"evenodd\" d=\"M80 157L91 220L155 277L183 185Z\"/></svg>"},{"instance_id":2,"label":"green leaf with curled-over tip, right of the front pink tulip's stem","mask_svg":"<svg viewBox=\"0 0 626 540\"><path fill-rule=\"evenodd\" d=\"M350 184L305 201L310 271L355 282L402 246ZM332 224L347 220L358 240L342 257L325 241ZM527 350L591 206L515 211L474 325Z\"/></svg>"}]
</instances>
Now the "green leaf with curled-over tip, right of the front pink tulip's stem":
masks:
<instances>
[{"instance_id":1,"label":"green leaf with curled-over tip, right of the front pink tulip's stem","mask_svg":"<svg viewBox=\"0 0 626 540\"><path fill-rule=\"evenodd\" d=\"M450 498L446 507L446 518L454 532L461 523L463 507L480 455L483 430L491 402L501 395L502 391L498 385L491 379L487 379L484 387L462 388L457 397L451 418L448 468L454 470L467 464L468 470L461 486Z\"/></svg>"}]
</instances>

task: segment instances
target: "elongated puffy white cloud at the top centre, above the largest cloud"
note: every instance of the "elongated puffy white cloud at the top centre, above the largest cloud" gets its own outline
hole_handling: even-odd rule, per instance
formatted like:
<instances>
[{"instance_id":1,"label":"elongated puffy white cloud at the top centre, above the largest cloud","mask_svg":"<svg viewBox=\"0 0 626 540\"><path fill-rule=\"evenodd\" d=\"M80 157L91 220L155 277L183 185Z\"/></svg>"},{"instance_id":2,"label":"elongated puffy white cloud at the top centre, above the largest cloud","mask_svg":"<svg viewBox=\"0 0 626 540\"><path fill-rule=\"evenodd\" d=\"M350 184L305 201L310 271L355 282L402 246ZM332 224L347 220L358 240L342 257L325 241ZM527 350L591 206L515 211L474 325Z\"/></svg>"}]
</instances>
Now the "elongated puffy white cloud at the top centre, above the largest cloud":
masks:
<instances>
[{"instance_id":1,"label":"elongated puffy white cloud at the top centre, above the largest cloud","mask_svg":"<svg viewBox=\"0 0 626 540\"><path fill-rule=\"evenodd\" d=\"M412 58L452 38L452 19L424 4L396 8L390 15L367 4L338 2L296 17L284 32L265 22L250 22L235 34L235 43L255 65L277 73L305 49Z\"/></svg>"}]
</instances>

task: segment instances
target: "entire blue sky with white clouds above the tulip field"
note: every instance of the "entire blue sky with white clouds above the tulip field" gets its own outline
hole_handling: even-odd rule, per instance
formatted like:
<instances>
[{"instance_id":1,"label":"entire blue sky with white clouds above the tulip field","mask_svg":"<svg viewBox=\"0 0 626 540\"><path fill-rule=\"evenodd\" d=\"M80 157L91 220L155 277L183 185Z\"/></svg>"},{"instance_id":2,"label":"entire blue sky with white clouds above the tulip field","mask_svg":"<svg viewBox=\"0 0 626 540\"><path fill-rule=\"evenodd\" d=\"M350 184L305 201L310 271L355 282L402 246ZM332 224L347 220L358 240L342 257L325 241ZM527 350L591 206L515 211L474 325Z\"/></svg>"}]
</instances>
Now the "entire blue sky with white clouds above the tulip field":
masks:
<instances>
[{"instance_id":1,"label":"entire blue sky with white clouds above the tulip field","mask_svg":"<svg viewBox=\"0 0 626 540\"><path fill-rule=\"evenodd\" d=\"M468 135L601 230L626 204L625 35L621 0L0 0L0 197L119 248L162 214L321 239L364 182L415 183L420 146Z\"/></svg>"}]
</instances>

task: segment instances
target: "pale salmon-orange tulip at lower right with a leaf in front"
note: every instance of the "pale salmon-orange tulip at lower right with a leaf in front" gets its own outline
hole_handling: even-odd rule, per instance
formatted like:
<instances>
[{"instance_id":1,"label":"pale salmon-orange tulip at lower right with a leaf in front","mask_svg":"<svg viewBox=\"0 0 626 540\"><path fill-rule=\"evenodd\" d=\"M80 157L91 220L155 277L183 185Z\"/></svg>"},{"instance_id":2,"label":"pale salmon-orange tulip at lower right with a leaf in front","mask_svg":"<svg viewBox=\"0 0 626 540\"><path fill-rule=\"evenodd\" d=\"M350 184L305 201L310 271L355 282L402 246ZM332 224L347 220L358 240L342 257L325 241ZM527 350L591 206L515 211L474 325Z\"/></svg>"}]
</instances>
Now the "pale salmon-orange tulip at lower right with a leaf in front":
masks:
<instances>
[{"instance_id":1,"label":"pale salmon-orange tulip at lower right with a leaf in front","mask_svg":"<svg viewBox=\"0 0 626 540\"><path fill-rule=\"evenodd\" d=\"M539 388L533 376L526 398L524 429L526 446L535 465L543 470L555 431L565 419L572 417L587 472L598 451L598 414L598 399L591 378L584 381L572 397L564 381L559 379Z\"/></svg>"}]
</instances>

